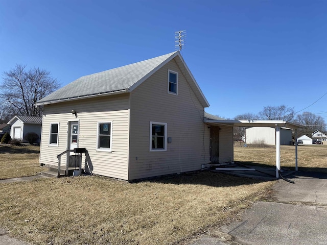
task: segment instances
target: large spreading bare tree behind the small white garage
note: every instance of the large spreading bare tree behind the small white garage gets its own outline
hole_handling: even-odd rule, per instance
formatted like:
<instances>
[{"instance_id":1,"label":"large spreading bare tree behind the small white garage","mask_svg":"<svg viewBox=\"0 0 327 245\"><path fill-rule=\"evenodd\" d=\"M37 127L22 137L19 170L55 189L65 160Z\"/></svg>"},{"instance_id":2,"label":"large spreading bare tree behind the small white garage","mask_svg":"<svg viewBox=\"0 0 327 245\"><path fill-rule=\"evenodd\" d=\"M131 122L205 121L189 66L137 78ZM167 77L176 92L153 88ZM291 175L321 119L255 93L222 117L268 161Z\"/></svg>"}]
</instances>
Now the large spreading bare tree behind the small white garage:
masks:
<instances>
[{"instance_id":1,"label":"large spreading bare tree behind the small white garage","mask_svg":"<svg viewBox=\"0 0 327 245\"><path fill-rule=\"evenodd\" d=\"M26 65L17 64L4 72L0 88L6 106L14 108L16 114L40 116L42 108L34 103L58 89L59 83L50 71L35 67L27 71Z\"/></svg>"}]
</instances>

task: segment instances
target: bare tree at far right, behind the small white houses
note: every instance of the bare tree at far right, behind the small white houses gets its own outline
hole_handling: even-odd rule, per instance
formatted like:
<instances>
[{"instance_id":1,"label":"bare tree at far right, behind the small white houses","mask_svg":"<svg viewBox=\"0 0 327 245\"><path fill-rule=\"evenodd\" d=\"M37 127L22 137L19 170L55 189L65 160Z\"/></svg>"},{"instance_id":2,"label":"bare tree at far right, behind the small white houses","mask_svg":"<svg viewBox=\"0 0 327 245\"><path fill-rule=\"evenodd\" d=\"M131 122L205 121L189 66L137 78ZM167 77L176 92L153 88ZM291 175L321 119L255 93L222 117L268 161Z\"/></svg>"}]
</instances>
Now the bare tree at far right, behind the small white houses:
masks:
<instances>
[{"instance_id":1,"label":"bare tree at far right, behind the small white houses","mask_svg":"<svg viewBox=\"0 0 327 245\"><path fill-rule=\"evenodd\" d=\"M305 111L302 114L296 115L294 120L296 124L306 126L305 129L299 129L299 134L305 134L311 137L311 134L316 130L325 132L326 123L321 116L317 116L309 111Z\"/></svg>"}]
</instances>

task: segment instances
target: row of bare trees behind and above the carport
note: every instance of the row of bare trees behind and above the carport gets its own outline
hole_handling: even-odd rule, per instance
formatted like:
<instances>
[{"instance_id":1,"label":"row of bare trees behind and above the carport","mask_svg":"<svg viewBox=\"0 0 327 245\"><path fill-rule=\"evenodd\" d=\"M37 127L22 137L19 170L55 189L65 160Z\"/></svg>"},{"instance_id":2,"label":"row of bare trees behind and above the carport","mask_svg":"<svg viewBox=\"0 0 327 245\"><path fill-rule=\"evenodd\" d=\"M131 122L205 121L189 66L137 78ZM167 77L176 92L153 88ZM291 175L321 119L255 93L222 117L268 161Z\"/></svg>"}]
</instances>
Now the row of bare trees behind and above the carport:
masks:
<instances>
[{"instance_id":1,"label":"row of bare trees behind and above the carport","mask_svg":"<svg viewBox=\"0 0 327 245\"><path fill-rule=\"evenodd\" d=\"M316 115L309 111L304 111L301 114L297 114L294 107L288 107L286 105L281 106L265 106L258 114L244 113L237 115L234 120L284 120L292 122L293 124L303 125L306 128L298 129L298 136L307 135L311 137L311 134L316 130L322 133L326 131L326 123L322 116ZM244 127L237 127L234 129L234 139L241 140L241 137L245 134Z\"/></svg>"}]
</instances>

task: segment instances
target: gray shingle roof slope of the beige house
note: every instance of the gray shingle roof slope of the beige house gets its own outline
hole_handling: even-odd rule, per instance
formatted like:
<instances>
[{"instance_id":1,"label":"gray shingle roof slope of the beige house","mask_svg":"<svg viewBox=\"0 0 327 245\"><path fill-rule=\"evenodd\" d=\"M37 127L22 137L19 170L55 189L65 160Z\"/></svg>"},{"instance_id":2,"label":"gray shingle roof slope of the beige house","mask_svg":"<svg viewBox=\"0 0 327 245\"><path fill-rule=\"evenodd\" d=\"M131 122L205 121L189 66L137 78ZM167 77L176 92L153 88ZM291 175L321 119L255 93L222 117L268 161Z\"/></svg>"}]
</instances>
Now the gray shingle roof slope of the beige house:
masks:
<instances>
[{"instance_id":1,"label":"gray shingle roof slope of the beige house","mask_svg":"<svg viewBox=\"0 0 327 245\"><path fill-rule=\"evenodd\" d=\"M90 95L128 91L152 75L156 68L171 60L179 52L173 52L149 60L87 75L58 89L35 103L48 104L55 101L75 99Z\"/></svg>"}]
</instances>

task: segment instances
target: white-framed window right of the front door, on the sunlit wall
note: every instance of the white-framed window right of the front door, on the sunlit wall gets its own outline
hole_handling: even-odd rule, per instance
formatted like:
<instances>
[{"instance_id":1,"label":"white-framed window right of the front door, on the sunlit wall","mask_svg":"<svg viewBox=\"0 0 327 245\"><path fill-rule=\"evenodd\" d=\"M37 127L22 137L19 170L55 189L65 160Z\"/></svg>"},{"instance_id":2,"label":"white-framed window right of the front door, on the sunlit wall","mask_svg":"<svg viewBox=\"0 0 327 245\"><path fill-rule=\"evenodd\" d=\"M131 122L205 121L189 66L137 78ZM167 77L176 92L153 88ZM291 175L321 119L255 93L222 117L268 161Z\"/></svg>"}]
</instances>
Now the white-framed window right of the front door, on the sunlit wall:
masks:
<instances>
[{"instance_id":1,"label":"white-framed window right of the front door, on the sunlit wall","mask_svg":"<svg viewBox=\"0 0 327 245\"><path fill-rule=\"evenodd\" d=\"M111 152L112 121L98 122L97 150Z\"/></svg>"}]
</instances>

